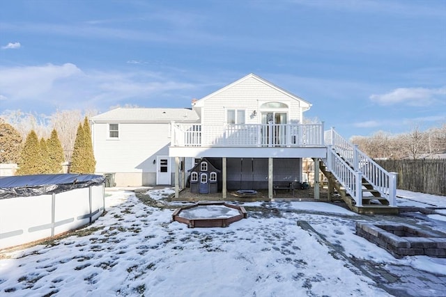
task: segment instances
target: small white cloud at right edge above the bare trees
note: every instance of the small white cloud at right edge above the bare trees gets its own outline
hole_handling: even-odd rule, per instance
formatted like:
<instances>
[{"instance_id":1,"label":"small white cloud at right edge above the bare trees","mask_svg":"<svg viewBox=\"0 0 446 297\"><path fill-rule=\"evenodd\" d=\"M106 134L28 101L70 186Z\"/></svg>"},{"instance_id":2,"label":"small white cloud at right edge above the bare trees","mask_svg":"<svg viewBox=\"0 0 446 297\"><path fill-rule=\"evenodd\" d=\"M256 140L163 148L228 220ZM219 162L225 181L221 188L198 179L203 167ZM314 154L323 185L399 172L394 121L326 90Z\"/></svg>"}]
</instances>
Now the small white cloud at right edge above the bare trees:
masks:
<instances>
[{"instance_id":1,"label":"small white cloud at right edge above the bare trees","mask_svg":"<svg viewBox=\"0 0 446 297\"><path fill-rule=\"evenodd\" d=\"M397 88L390 93L371 95L372 102L380 105L407 104L412 106L430 105L446 96L445 88Z\"/></svg>"}]
</instances>

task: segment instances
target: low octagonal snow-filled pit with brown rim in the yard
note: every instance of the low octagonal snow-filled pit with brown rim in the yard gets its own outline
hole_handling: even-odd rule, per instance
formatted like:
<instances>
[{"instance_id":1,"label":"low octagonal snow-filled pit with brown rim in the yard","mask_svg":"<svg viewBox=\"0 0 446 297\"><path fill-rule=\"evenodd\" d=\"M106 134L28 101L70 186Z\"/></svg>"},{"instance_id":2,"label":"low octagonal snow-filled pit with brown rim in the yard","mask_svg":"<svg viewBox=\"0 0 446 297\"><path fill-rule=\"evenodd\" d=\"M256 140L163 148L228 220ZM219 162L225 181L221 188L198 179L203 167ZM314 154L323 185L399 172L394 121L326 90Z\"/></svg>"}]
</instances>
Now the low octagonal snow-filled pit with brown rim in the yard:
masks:
<instances>
[{"instance_id":1,"label":"low octagonal snow-filled pit with brown rim in the yard","mask_svg":"<svg viewBox=\"0 0 446 297\"><path fill-rule=\"evenodd\" d=\"M199 202L175 209L172 220L188 227L228 227L229 224L247 218L245 207L225 202Z\"/></svg>"}]
</instances>

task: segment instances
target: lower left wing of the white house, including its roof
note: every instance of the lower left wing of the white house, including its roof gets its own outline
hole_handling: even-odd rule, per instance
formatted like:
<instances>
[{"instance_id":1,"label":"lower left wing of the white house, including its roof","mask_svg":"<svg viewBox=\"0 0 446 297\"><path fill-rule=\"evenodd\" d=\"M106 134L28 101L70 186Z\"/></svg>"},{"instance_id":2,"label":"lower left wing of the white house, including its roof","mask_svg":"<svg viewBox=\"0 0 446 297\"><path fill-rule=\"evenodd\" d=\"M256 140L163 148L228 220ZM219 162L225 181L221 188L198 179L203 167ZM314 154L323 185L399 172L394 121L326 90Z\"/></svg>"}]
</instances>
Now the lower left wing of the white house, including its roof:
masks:
<instances>
[{"instance_id":1,"label":"lower left wing of the white house, including its roof","mask_svg":"<svg viewBox=\"0 0 446 297\"><path fill-rule=\"evenodd\" d=\"M118 108L91 120L98 174L114 173L116 186L171 184L170 124L199 120L190 109Z\"/></svg>"}]
</instances>

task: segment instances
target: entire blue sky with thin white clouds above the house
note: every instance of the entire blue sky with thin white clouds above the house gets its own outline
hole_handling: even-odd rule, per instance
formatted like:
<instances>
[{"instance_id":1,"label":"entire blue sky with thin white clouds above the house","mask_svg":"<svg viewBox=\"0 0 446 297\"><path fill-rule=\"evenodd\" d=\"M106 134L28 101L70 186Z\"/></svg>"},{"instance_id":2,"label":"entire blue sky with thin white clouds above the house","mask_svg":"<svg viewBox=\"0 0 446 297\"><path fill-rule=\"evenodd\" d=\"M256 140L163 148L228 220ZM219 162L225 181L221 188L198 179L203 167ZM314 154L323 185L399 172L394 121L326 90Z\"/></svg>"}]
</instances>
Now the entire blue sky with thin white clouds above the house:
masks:
<instances>
[{"instance_id":1,"label":"entire blue sky with thin white clouds above the house","mask_svg":"<svg viewBox=\"0 0 446 297\"><path fill-rule=\"evenodd\" d=\"M446 122L446 0L0 1L0 113L190 107L253 72L349 138Z\"/></svg>"}]
</instances>

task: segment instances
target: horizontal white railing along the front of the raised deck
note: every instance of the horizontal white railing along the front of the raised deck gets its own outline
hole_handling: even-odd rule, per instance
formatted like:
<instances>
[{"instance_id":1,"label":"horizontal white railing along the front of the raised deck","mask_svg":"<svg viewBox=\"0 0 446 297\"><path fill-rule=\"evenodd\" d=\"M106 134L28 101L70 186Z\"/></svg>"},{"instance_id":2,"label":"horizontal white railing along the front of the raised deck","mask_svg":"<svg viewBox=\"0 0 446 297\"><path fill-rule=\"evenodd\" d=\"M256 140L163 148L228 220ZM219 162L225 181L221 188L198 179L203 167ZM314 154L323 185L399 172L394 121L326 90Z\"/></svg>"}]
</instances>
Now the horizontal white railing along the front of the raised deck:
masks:
<instances>
[{"instance_id":1,"label":"horizontal white railing along the front of the raised deck","mask_svg":"<svg viewBox=\"0 0 446 297\"><path fill-rule=\"evenodd\" d=\"M171 123L171 145L179 147L322 147L323 123L208 126Z\"/></svg>"}]
</instances>

